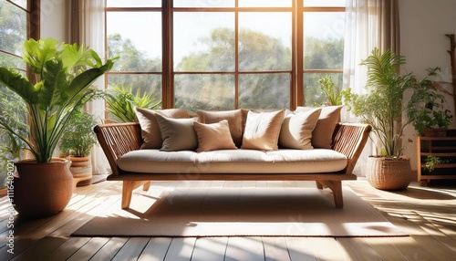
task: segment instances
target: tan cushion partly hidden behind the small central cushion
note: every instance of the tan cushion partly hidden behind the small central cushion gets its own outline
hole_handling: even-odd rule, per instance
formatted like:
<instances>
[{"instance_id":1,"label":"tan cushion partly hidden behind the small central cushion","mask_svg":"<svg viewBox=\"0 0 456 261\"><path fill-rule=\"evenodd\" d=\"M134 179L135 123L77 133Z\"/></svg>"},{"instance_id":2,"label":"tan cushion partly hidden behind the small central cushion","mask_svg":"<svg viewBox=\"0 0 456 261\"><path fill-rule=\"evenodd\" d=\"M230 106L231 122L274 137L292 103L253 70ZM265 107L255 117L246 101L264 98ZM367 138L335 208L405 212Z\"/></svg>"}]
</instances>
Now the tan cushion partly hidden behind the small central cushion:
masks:
<instances>
[{"instance_id":1,"label":"tan cushion partly hidden behind the small central cushion","mask_svg":"<svg viewBox=\"0 0 456 261\"><path fill-rule=\"evenodd\" d=\"M228 120L230 133L234 143L239 148L243 142L243 110L207 111L198 110L198 121L202 123L217 123Z\"/></svg>"}]
</instances>

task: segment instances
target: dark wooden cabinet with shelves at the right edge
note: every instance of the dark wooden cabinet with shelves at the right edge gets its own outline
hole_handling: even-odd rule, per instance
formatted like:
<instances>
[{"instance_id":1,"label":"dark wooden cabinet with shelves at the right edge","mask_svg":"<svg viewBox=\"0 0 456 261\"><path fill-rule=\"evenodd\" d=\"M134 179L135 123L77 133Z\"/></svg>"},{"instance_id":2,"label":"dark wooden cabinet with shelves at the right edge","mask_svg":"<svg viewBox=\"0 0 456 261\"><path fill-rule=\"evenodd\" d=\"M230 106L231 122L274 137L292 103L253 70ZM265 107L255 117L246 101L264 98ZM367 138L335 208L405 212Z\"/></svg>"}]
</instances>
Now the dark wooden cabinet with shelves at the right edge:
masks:
<instances>
[{"instance_id":1,"label":"dark wooden cabinet with shelves at the right edge","mask_svg":"<svg viewBox=\"0 0 456 261\"><path fill-rule=\"evenodd\" d=\"M447 131L446 137L417 137L418 181L456 179L456 129ZM430 172L426 166L428 156L438 157Z\"/></svg>"}]
</instances>

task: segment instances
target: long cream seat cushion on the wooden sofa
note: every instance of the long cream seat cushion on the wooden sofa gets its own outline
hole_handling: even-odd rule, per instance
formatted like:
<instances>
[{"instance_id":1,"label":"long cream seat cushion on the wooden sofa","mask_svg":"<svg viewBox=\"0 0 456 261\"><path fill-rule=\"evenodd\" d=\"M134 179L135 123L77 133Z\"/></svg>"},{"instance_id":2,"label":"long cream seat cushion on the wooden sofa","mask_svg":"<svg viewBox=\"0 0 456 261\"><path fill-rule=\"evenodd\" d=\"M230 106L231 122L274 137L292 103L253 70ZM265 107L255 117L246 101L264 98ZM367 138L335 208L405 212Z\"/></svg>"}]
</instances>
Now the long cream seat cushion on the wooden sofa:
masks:
<instances>
[{"instance_id":1,"label":"long cream seat cushion on the wooden sofa","mask_svg":"<svg viewBox=\"0 0 456 261\"><path fill-rule=\"evenodd\" d=\"M338 172L347 156L326 149L257 151L130 151L118 160L126 172L146 173L317 173Z\"/></svg>"}]
</instances>

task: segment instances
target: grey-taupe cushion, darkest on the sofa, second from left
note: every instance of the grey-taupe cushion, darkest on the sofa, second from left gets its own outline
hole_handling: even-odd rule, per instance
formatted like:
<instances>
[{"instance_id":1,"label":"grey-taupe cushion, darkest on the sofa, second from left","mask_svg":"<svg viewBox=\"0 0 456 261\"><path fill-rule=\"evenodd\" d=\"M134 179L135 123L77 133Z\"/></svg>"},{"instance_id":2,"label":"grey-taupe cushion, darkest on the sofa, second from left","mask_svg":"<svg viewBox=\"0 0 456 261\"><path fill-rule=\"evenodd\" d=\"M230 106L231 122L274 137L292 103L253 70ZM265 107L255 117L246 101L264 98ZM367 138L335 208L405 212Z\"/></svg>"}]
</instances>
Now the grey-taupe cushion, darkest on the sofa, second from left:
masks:
<instances>
[{"instance_id":1,"label":"grey-taupe cushion, darkest on the sofa, second from left","mask_svg":"<svg viewBox=\"0 0 456 261\"><path fill-rule=\"evenodd\" d=\"M194 151L198 146L198 138L193 127L195 119L172 119L157 113L155 115L160 126L161 151Z\"/></svg>"}]
</instances>

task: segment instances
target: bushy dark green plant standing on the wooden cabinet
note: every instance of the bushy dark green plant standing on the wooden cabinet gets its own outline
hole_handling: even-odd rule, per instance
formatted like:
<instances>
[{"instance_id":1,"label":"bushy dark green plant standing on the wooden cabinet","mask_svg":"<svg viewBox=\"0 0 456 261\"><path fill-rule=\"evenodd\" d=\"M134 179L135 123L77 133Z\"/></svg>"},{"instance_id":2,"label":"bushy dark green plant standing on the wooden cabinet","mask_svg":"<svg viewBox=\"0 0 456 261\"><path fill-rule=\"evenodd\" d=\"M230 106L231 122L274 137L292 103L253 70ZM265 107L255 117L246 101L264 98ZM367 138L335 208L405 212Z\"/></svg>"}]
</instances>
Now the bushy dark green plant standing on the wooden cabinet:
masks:
<instances>
[{"instance_id":1,"label":"bushy dark green plant standing on the wooden cabinet","mask_svg":"<svg viewBox=\"0 0 456 261\"><path fill-rule=\"evenodd\" d=\"M446 136L451 124L450 110L445 110L445 97L429 79L437 75L440 68L428 68L428 76L416 81L407 106L407 117L420 136Z\"/></svg>"}]
</instances>

